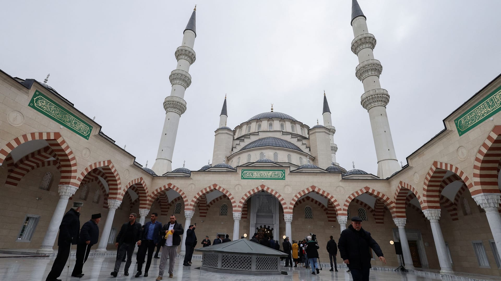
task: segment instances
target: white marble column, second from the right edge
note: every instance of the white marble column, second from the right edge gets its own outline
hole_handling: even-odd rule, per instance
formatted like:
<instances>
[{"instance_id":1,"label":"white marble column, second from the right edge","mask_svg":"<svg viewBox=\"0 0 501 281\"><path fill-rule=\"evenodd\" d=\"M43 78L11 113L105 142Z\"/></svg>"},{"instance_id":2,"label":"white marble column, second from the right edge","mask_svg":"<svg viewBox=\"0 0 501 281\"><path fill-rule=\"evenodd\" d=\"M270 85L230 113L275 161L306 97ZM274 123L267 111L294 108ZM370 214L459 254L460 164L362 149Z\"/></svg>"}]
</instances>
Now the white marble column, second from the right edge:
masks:
<instances>
[{"instance_id":1,"label":"white marble column, second from the right edge","mask_svg":"<svg viewBox=\"0 0 501 281\"><path fill-rule=\"evenodd\" d=\"M425 209L423 210L424 215L430 221L431 232L433 232L433 240L435 241L435 247L438 255L438 263L440 263L440 273L453 273L452 267L450 265L449 255L447 253L447 247L445 246L445 240L443 239L442 229L440 229L440 209Z\"/></svg>"}]
</instances>

